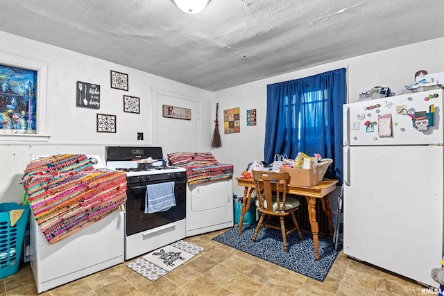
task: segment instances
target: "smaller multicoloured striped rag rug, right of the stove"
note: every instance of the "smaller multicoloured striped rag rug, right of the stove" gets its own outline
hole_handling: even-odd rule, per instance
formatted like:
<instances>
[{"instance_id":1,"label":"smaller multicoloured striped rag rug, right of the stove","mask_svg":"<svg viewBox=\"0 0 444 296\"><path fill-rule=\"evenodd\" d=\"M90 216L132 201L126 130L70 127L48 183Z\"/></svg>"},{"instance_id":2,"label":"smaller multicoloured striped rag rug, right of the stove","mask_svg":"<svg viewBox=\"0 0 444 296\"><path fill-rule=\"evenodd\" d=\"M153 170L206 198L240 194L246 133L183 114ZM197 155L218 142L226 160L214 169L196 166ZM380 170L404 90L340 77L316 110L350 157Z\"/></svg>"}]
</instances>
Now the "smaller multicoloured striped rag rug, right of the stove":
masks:
<instances>
[{"instance_id":1,"label":"smaller multicoloured striped rag rug, right of the stove","mask_svg":"<svg viewBox=\"0 0 444 296\"><path fill-rule=\"evenodd\" d=\"M219 164L212 153L171 153L168 158L172 166L187 169L189 185L233 177L233 165Z\"/></svg>"}]
</instances>

